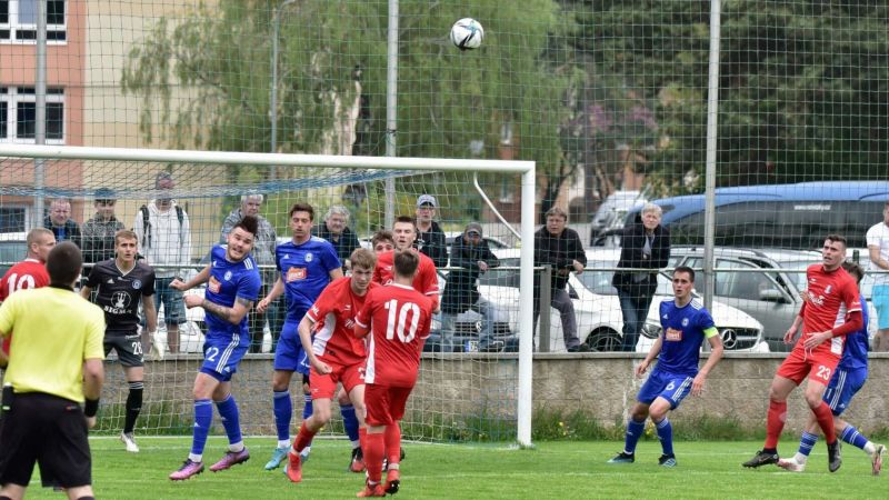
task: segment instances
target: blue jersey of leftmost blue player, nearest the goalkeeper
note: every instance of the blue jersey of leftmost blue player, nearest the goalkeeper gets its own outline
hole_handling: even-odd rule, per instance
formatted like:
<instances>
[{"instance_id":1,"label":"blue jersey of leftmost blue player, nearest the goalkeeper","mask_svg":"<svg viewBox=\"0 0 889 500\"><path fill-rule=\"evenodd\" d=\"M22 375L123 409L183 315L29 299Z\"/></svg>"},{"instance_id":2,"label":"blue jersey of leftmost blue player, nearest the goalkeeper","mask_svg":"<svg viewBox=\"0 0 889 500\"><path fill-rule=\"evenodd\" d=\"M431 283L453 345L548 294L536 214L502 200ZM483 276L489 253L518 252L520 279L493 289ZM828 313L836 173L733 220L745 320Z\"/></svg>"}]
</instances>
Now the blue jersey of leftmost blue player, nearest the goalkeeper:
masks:
<instances>
[{"instance_id":1,"label":"blue jersey of leftmost blue player, nearest the goalkeeper","mask_svg":"<svg viewBox=\"0 0 889 500\"><path fill-rule=\"evenodd\" d=\"M259 288L262 284L259 279L259 269L252 256L240 262L231 262L226 259L226 249L216 246L210 251L210 280L207 282L204 298L212 303L218 303L227 308L234 306L234 299L241 298L256 302L259 296ZM247 316L240 323L232 324L216 314L207 313L207 337L216 339L230 339L239 334L242 343L250 342L247 329Z\"/></svg>"}]
</instances>

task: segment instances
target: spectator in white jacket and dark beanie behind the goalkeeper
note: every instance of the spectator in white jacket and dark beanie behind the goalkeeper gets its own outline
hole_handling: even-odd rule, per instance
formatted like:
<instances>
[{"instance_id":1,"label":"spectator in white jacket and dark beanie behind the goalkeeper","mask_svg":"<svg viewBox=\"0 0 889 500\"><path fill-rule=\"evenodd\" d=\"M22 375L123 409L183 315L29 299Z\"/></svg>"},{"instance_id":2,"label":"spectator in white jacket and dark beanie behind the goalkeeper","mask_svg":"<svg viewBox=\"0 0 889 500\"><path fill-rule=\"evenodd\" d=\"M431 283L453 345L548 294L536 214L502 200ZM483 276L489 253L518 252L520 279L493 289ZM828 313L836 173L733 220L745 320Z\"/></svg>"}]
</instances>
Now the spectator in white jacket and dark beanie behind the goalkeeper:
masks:
<instances>
[{"instance_id":1,"label":"spectator in white jacket and dark beanie behind the goalkeeper","mask_svg":"<svg viewBox=\"0 0 889 500\"><path fill-rule=\"evenodd\" d=\"M176 278L187 281L183 267L191 263L188 213L170 197L174 187L172 174L159 172L154 177L158 198L140 207L132 223L139 237L139 253L154 269L154 307L160 310L163 306L167 348L173 354L179 352L179 326L186 322L186 307L182 292L170 288L170 283Z\"/></svg>"}]
</instances>

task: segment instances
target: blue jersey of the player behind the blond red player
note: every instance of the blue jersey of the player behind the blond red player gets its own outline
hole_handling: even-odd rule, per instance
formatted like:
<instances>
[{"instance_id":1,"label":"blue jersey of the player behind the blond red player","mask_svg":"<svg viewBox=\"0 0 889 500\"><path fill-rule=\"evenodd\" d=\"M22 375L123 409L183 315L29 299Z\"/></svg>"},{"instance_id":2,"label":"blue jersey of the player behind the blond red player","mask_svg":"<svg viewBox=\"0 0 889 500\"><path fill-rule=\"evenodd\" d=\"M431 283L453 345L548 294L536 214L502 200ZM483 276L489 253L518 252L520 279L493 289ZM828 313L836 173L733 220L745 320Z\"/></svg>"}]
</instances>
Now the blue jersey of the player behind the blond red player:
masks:
<instances>
[{"instance_id":1,"label":"blue jersey of the player behind the blond red player","mask_svg":"<svg viewBox=\"0 0 889 500\"><path fill-rule=\"evenodd\" d=\"M274 250L274 264L284 283L287 319L297 322L330 283L330 271L342 266L333 246L318 237L302 244L292 241L279 244Z\"/></svg>"}]
</instances>

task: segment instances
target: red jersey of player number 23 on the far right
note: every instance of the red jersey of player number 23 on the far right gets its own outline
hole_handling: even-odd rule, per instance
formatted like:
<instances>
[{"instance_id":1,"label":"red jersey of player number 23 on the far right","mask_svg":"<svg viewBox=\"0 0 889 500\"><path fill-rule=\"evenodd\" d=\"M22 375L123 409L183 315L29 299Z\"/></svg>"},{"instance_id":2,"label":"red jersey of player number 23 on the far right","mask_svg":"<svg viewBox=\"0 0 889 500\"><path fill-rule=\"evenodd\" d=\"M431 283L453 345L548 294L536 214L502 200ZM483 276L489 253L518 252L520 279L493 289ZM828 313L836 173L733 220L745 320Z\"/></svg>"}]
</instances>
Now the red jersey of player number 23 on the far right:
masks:
<instances>
[{"instance_id":1,"label":"red jersey of player number 23 on the far right","mask_svg":"<svg viewBox=\"0 0 889 500\"><path fill-rule=\"evenodd\" d=\"M806 333L831 330L842 324L849 312L861 310L858 284L845 269L827 272L822 264L812 264L806 270L806 280L809 300L803 306L802 336L796 346L799 349L802 349ZM843 342L845 337L833 337L812 352L842 356Z\"/></svg>"}]
</instances>

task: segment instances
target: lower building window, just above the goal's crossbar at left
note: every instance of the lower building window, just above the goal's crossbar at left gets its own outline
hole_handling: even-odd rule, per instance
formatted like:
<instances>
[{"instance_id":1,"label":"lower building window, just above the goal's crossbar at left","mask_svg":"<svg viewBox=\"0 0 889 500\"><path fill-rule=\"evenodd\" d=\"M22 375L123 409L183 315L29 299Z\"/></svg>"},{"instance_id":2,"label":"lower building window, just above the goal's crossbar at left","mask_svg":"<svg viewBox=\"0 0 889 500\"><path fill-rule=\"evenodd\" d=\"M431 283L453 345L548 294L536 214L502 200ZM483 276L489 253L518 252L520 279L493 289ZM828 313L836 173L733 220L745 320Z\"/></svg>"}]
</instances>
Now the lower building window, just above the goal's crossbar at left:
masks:
<instances>
[{"instance_id":1,"label":"lower building window, just above the goal's crossbar at left","mask_svg":"<svg viewBox=\"0 0 889 500\"><path fill-rule=\"evenodd\" d=\"M33 143L37 136L33 87L0 87L0 142ZM64 91L47 89L47 143L64 143Z\"/></svg>"}]
</instances>

